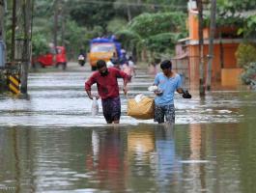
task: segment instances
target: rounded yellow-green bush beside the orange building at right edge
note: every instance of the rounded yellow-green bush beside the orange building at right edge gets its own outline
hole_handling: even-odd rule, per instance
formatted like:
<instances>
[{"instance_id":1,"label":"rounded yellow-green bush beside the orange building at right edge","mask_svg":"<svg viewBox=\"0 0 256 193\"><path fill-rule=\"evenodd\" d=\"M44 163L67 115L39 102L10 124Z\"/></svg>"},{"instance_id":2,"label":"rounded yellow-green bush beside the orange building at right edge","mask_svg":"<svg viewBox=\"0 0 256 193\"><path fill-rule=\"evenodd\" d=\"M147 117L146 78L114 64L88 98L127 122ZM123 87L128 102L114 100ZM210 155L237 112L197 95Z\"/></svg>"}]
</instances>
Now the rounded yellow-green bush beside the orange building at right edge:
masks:
<instances>
[{"instance_id":1,"label":"rounded yellow-green bush beside the orange building at right edge","mask_svg":"<svg viewBox=\"0 0 256 193\"><path fill-rule=\"evenodd\" d=\"M250 63L256 62L256 48L252 44L241 43L236 52L238 65L247 68Z\"/></svg>"}]
</instances>

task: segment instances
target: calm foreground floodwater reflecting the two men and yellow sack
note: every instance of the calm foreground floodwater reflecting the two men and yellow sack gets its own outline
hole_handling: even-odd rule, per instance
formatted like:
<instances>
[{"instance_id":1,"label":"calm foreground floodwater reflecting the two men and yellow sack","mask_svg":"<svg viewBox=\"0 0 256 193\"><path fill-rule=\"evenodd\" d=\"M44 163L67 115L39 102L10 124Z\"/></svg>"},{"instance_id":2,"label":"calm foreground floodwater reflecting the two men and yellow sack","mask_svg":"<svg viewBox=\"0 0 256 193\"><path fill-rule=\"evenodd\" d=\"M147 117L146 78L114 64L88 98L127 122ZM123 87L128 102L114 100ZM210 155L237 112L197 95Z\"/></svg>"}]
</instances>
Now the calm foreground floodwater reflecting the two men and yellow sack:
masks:
<instances>
[{"instance_id":1,"label":"calm foreground floodwater reflecting the two men and yellow sack","mask_svg":"<svg viewBox=\"0 0 256 193\"><path fill-rule=\"evenodd\" d=\"M2 128L0 189L254 192L255 132L245 123Z\"/></svg>"}]
</instances>

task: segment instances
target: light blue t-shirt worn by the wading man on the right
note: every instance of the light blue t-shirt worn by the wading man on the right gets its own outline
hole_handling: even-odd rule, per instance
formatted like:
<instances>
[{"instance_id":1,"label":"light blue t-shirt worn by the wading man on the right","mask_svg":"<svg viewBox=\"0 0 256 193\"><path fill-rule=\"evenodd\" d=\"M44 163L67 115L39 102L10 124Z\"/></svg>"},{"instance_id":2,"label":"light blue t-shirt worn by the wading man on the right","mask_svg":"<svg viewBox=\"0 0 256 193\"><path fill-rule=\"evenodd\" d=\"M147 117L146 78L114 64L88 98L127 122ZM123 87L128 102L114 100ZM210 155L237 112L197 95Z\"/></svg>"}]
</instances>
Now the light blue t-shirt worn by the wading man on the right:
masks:
<instances>
[{"instance_id":1,"label":"light blue t-shirt worn by the wading man on the right","mask_svg":"<svg viewBox=\"0 0 256 193\"><path fill-rule=\"evenodd\" d=\"M156 105L169 105L174 103L174 93L182 87L182 79L178 73L168 78L163 72L159 72L156 74L154 84L162 91L162 95L155 98Z\"/></svg>"}]
</instances>

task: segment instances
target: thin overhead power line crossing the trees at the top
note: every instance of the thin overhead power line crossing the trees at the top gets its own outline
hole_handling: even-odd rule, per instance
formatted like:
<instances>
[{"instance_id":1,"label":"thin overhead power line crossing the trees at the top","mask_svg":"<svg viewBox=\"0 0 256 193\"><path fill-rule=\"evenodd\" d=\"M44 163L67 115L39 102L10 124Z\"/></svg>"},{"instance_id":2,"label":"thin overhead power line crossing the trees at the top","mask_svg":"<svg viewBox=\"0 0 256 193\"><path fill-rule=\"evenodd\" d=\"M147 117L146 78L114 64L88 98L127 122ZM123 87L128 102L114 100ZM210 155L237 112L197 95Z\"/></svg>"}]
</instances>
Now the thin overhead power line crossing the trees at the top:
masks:
<instances>
[{"instance_id":1,"label":"thin overhead power line crossing the trees at the top","mask_svg":"<svg viewBox=\"0 0 256 193\"><path fill-rule=\"evenodd\" d=\"M155 8L173 8L173 9L186 9L186 6L175 6L175 5L157 5L157 4L149 4L149 3L123 3L123 2L111 2L111 1L94 1L94 0L83 0L83 3L88 4L116 4L116 5L125 5L125 6L133 6L133 7L155 7Z\"/></svg>"}]
</instances>

